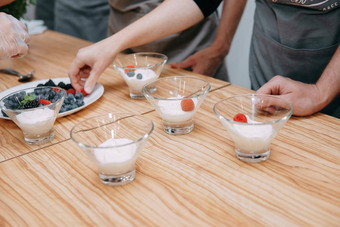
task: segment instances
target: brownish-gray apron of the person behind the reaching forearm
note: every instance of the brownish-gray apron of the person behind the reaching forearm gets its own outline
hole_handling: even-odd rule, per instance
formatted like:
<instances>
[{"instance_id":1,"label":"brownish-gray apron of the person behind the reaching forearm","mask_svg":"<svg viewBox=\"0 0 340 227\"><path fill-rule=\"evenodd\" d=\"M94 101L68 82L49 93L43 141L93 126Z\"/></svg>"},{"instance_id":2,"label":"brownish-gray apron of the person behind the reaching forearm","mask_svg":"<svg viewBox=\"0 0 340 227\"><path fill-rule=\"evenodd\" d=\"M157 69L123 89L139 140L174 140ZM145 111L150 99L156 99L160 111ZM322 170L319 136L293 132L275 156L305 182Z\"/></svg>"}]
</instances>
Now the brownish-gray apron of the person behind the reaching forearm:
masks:
<instances>
[{"instance_id":1,"label":"brownish-gray apron of the person behind the reaching forearm","mask_svg":"<svg viewBox=\"0 0 340 227\"><path fill-rule=\"evenodd\" d=\"M109 0L111 6L109 35L120 31L143 17L162 2L163 0ZM159 52L168 56L168 62L181 62L213 42L218 21L218 16L214 13L183 32L169 35L143 46L130 48L126 52ZM224 62L216 73L215 78L228 81Z\"/></svg>"}]
</instances>

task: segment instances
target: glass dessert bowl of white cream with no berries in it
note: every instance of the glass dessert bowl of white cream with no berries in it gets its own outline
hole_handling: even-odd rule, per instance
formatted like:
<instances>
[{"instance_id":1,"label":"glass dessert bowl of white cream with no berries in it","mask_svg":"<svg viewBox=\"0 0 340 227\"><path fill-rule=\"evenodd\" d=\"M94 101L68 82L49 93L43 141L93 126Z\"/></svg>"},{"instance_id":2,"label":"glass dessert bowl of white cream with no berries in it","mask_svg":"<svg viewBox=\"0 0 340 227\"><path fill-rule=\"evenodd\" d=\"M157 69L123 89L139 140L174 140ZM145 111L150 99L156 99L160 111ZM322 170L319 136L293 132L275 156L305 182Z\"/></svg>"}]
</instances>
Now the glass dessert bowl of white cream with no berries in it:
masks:
<instances>
[{"instance_id":1,"label":"glass dessert bowl of white cream with no berries in it","mask_svg":"<svg viewBox=\"0 0 340 227\"><path fill-rule=\"evenodd\" d=\"M107 113L75 125L71 139L97 165L103 184L119 186L134 180L135 162L153 128L142 115Z\"/></svg>"}]
</instances>

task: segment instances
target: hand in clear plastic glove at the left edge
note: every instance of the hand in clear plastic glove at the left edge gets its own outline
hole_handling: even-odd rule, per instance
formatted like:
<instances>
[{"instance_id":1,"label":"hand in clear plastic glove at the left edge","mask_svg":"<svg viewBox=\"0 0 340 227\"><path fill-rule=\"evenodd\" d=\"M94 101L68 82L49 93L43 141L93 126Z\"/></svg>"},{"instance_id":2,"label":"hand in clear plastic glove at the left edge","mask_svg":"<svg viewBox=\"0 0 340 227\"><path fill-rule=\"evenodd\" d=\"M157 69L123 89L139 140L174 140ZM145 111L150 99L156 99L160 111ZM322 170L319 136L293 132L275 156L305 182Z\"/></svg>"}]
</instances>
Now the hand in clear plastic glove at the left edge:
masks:
<instances>
[{"instance_id":1,"label":"hand in clear plastic glove at the left edge","mask_svg":"<svg viewBox=\"0 0 340 227\"><path fill-rule=\"evenodd\" d=\"M0 13L0 59L24 56L28 52L26 26L6 13Z\"/></svg>"}]
</instances>

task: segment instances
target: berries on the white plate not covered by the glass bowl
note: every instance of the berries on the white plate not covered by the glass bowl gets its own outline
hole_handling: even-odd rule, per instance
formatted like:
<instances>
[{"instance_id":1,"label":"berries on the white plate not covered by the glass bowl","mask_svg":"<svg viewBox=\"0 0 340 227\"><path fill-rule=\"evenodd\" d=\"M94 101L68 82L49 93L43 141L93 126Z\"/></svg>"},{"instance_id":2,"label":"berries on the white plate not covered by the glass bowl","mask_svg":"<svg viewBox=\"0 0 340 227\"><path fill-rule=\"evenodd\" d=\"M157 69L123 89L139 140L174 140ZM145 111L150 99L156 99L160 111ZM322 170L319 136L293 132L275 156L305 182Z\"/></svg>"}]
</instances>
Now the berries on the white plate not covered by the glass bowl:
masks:
<instances>
[{"instance_id":1,"label":"berries on the white plate not covered by the glass bowl","mask_svg":"<svg viewBox=\"0 0 340 227\"><path fill-rule=\"evenodd\" d=\"M64 82L59 82L55 84L53 80L48 80L45 84L38 84L37 87L41 86L53 86L53 87L60 87L67 91L67 95L64 99L64 103L60 108L59 113L63 113L69 110L76 109L78 107L83 106L84 103L84 94L81 92L76 92L71 84L65 84ZM72 92L70 92L72 90ZM52 100L51 100L52 101Z\"/></svg>"}]
</instances>

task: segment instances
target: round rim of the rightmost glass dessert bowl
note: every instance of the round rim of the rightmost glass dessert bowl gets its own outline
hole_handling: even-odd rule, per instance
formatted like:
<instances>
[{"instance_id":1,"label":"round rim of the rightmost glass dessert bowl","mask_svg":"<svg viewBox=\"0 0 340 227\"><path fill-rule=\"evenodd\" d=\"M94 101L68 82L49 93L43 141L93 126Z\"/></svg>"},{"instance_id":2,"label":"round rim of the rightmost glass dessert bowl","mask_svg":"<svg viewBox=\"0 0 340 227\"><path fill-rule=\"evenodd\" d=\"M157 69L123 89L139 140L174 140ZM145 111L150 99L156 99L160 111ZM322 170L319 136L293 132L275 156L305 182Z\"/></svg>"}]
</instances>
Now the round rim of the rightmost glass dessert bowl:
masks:
<instances>
[{"instance_id":1,"label":"round rim of the rightmost glass dessert bowl","mask_svg":"<svg viewBox=\"0 0 340 227\"><path fill-rule=\"evenodd\" d=\"M237 98L237 97L249 97L249 96L258 96L258 97L272 97L272 98L275 98L275 99L280 99L280 100L283 100L285 101L289 106L290 106L290 111L282 118L278 119L278 120L274 120L274 121L266 121L266 122L253 122L253 123L245 123L245 122L239 122L239 121L234 121L234 120L231 120L231 119L227 119L225 117L223 117L222 115L220 115L219 113L217 113L217 110L216 110L216 106L222 102L225 102L226 100L228 99L233 99L233 98ZM282 121L287 121L292 115L293 115L293 105L291 102L285 100L285 99L282 99L279 95L268 95L268 94L241 94L241 95L232 95L228 98L224 98L220 101L218 101L217 103L214 104L213 106L213 111L215 113L215 115L219 118L219 119L224 119L226 120L227 122L230 122L230 123L233 123L233 124L240 124L240 125L273 125L273 124L276 124L276 123L279 123L279 122L282 122Z\"/></svg>"}]
</instances>

